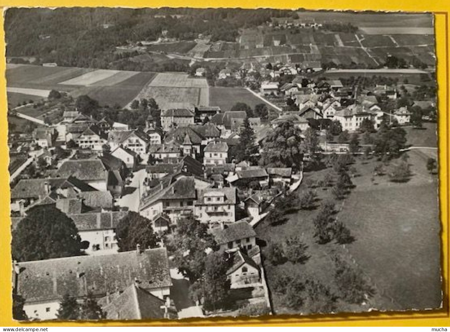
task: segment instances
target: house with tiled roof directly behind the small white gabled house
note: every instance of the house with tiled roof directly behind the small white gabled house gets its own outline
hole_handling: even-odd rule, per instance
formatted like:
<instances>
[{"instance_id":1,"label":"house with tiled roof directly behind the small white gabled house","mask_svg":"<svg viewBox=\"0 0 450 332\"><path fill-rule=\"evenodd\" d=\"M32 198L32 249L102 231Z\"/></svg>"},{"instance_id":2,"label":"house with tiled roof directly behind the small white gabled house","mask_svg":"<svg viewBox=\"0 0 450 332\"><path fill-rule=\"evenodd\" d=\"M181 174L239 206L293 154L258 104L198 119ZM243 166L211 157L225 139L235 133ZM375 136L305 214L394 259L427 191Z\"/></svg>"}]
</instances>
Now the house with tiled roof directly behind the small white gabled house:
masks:
<instances>
[{"instance_id":1,"label":"house with tiled roof directly behind the small white gabled house","mask_svg":"<svg viewBox=\"0 0 450 332\"><path fill-rule=\"evenodd\" d=\"M238 248L250 250L256 246L256 232L246 221L229 225L221 223L220 227L211 228L210 232L220 246L220 250L228 251Z\"/></svg>"}]
</instances>

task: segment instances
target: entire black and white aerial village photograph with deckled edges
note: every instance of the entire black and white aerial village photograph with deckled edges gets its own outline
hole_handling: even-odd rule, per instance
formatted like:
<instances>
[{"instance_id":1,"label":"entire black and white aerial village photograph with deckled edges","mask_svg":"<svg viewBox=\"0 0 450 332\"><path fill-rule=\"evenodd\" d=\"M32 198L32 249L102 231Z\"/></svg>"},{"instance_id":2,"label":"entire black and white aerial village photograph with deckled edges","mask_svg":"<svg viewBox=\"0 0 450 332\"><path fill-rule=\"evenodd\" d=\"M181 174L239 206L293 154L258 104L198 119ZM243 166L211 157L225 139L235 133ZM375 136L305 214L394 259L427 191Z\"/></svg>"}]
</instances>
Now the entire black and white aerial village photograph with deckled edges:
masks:
<instances>
[{"instance_id":1,"label":"entire black and white aerial village photograph with deckled edges","mask_svg":"<svg viewBox=\"0 0 450 332\"><path fill-rule=\"evenodd\" d=\"M9 8L4 30L15 320L442 307L432 13Z\"/></svg>"}]
</instances>

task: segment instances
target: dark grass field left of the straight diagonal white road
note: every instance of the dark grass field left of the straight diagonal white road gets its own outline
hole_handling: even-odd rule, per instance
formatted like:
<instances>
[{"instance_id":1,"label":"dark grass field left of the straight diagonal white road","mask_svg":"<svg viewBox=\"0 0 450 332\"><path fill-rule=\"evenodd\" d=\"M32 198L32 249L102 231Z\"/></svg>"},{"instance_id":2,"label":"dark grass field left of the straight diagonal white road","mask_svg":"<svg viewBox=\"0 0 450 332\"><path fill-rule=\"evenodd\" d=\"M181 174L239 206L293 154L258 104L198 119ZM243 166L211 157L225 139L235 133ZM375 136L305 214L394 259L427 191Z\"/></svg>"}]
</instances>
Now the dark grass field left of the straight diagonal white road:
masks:
<instances>
[{"instance_id":1,"label":"dark grass field left of the straight diagonal white road","mask_svg":"<svg viewBox=\"0 0 450 332\"><path fill-rule=\"evenodd\" d=\"M264 104L264 101L239 87L214 86L209 88L209 104L211 106L219 106L222 112L225 112L229 111L236 103L245 103L254 109L256 105ZM275 110L268 104L267 107Z\"/></svg>"}]
</instances>

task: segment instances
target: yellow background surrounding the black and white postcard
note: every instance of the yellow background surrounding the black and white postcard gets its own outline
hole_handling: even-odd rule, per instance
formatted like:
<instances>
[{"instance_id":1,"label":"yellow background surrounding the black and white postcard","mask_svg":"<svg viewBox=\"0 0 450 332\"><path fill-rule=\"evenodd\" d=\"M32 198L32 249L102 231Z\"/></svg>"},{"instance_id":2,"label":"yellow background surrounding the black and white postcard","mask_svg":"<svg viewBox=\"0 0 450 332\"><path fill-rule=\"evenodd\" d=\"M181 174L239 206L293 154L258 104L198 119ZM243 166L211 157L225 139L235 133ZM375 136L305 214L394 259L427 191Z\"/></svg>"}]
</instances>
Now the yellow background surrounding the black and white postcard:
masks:
<instances>
[{"instance_id":1,"label":"yellow background surrounding the black and white postcard","mask_svg":"<svg viewBox=\"0 0 450 332\"><path fill-rule=\"evenodd\" d=\"M6 81L4 74L0 75L0 326L145 326L145 325L302 325L302 326L450 326L449 312L449 0L1 0L3 7L73 7L73 6L108 6L108 7L241 7L241 8L306 8L306 9L335 9L335 10L385 10L385 11L415 11L434 12L436 26L437 47L437 80L438 80L438 107L439 107L439 166L440 166L440 208L442 224L442 275L443 275L443 309L414 313L366 313L366 314L340 314L327 316L269 316L264 318L236 318L236 319L185 319L182 321L134 321L134 322L108 322L108 323L17 323L11 314L11 252L10 252L10 220L9 220L9 174L8 174L8 148L7 148L7 117L6 117ZM3 27L3 17L0 18ZM0 72L4 73L4 31L0 29L1 61ZM420 199L418 197L418 199ZM392 253L395 255L395 253Z\"/></svg>"}]
</instances>

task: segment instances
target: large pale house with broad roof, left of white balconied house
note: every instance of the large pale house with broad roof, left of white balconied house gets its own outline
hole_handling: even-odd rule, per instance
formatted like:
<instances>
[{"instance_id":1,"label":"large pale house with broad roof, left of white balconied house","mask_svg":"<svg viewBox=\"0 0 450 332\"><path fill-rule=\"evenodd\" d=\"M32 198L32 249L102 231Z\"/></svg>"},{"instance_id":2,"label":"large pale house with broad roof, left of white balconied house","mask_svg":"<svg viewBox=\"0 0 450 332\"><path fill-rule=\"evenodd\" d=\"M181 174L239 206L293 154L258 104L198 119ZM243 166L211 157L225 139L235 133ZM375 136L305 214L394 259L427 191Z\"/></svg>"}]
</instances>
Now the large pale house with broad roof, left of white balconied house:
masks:
<instances>
[{"instance_id":1,"label":"large pale house with broad roof, left of white balconied house","mask_svg":"<svg viewBox=\"0 0 450 332\"><path fill-rule=\"evenodd\" d=\"M139 205L139 214L152 219L165 213L172 222L193 213L193 201L197 198L194 177L175 179L167 175L159 185L144 193Z\"/></svg>"}]
</instances>

